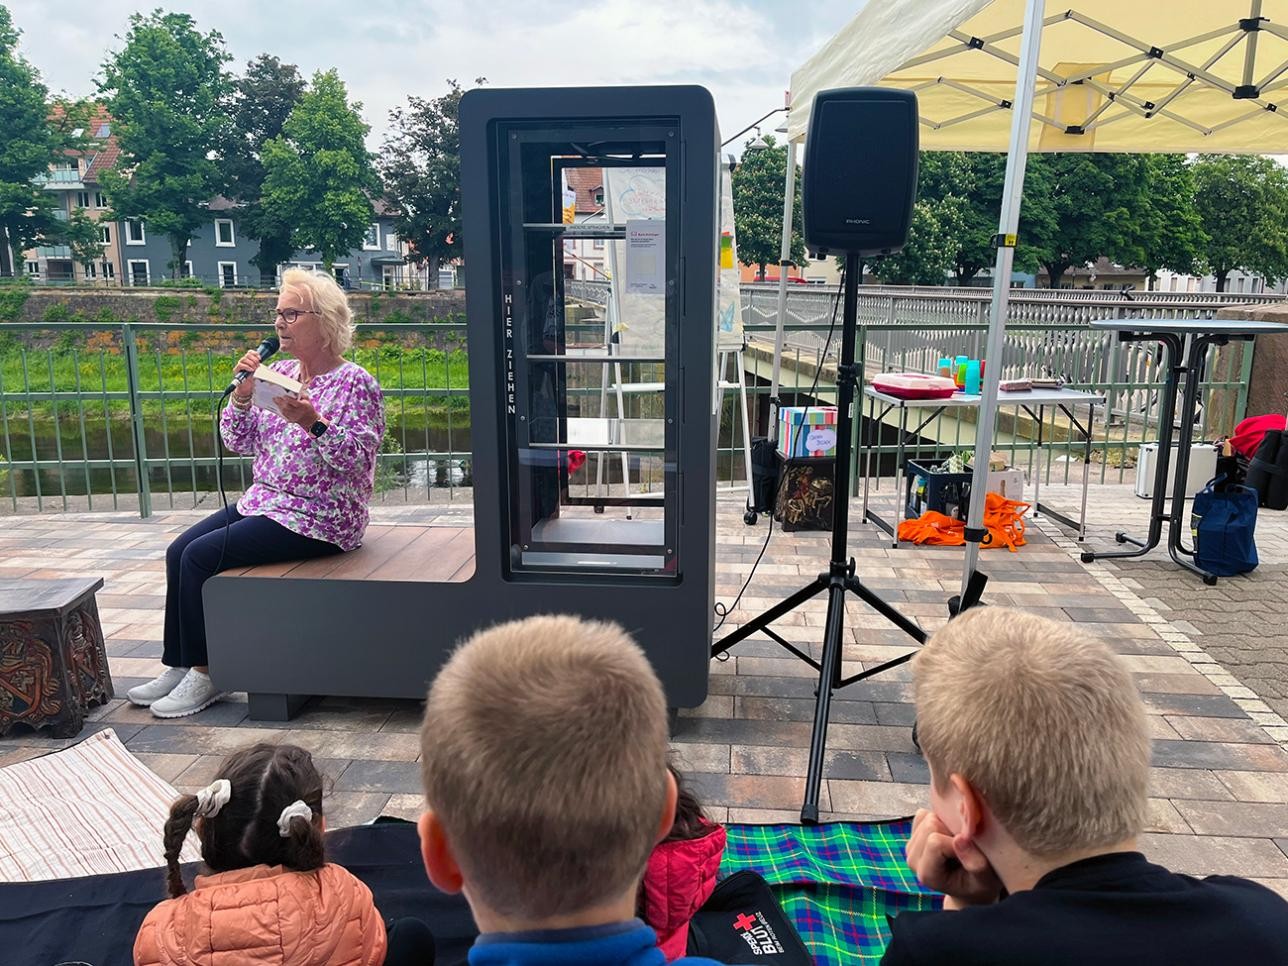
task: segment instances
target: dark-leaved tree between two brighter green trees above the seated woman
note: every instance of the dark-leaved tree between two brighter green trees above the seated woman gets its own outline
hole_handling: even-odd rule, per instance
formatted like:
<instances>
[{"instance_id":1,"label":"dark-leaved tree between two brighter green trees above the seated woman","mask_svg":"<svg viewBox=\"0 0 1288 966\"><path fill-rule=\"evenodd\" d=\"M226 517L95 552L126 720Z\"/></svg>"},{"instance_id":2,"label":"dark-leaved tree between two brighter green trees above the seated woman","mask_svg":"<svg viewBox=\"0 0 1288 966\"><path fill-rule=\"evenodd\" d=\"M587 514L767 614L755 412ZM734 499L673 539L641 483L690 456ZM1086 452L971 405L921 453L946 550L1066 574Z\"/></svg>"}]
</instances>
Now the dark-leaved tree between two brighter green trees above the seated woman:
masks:
<instances>
[{"instance_id":1,"label":"dark-leaved tree between two brighter green trees above the seated woman","mask_svg":"<svg viewBox=\"0 0 1288 966\"><path fill-rule=\"evenodd\" d=\"M232 124L224 149L224 174L231 197L241 202L245 232L259 240L259 254L251 263L261 277L276 274L277 267L295 250L289 220L270 218L260 205L264 143L277 138L304 93L305 82L295 64L260 54L246 64L246 73L232 84Z\"/></svg>"}]
</instances>

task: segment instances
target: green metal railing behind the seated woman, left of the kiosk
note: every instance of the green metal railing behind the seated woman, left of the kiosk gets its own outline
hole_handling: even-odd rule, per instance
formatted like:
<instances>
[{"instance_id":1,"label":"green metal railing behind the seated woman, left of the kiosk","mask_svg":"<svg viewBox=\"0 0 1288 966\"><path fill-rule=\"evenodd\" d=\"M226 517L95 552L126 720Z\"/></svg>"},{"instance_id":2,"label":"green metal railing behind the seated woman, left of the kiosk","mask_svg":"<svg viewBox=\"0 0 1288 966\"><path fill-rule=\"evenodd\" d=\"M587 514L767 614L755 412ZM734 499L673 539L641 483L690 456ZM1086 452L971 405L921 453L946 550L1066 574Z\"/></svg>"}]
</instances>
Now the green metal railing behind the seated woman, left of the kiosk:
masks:
<instances>
[{"instance_id":1,"label":"green metal railing behind the seated woman, left of the kiosk","mask_svg":"<svg viewBox=\"0 0 1288 966\"><path fill-rule=\"evenodd\" d=\"M216 491L214 407L261 325L0 326L0 500L12 511L198 506ZM350 354L380 381L389 429L377 500L447 498L470 482L465 327L359 326ZM250 460L224 456L245 488ZM75 506L73 506L75 504ZM124 506L122 506L124 504Z\"/></svg>"}]
</instances>

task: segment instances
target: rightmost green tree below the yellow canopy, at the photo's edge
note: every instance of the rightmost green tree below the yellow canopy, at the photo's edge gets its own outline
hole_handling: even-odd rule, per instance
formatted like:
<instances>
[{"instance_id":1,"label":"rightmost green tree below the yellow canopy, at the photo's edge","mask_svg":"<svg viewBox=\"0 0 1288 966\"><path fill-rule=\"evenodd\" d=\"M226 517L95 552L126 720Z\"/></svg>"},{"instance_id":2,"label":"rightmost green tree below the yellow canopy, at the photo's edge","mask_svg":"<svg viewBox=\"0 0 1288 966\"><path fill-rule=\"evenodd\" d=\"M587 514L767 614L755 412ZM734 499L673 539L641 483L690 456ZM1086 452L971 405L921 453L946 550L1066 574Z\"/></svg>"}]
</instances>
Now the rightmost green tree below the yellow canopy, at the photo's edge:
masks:
<instances>
[{"instance_id":1,"label":"rightmost green tree below the yellow canopy, at the photo's edge","mask_svg":"<svg viewBox=\"0 0 1288 966\"><path fill-rule=\"evenodd\" d=\"M1194 204L1207 236L1200 252L1216 290L1235 269L1288 277L1288 174L1258 156L1207 155L1191 165Z\"/></svg>"}]
</instances>

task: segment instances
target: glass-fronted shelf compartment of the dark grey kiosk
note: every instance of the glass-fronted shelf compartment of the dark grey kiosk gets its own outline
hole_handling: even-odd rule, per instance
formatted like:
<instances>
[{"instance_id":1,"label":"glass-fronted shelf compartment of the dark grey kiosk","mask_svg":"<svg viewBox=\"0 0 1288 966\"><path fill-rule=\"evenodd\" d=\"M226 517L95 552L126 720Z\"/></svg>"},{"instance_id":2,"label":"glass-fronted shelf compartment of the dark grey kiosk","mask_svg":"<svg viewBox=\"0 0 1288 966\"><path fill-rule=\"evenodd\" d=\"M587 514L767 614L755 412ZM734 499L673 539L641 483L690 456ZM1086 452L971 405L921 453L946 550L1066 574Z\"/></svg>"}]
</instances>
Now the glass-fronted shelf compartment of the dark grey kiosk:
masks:
<instances>
[{"instance_id":1,"label":"glass-fronted shelf compartment of the dark grey kiosk","mask_svg":"<svg viewBox=\"0 0 1288 966\"><path fill-rule=\"evenodd\" d=\"M674 131L497 131L515 571L679 574Z\"/></svg>"}]
</instances>

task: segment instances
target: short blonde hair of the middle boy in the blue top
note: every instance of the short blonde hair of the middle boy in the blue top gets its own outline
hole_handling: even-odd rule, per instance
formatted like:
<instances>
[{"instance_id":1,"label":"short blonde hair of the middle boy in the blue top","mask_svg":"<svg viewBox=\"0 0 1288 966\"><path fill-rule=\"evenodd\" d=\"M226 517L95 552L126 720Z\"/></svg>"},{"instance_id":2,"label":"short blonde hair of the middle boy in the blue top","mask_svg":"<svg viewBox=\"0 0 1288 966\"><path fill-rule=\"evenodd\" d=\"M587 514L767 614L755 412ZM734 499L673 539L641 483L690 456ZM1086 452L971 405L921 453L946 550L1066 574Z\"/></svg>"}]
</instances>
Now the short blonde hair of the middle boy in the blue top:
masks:
<instances>
[{"instance_id":1,"label":"short blonde hair of the middle boy in the blue top","mask_svg":"<svg viewBox=\"0 0 1288 966\"><path fill-rule=\"evenodd\" d=\"M475 634L425 703L422 775L470 894L542 920L634 889L667 787L662 685L617 625Z\"/></svg>"}]
</instances>

